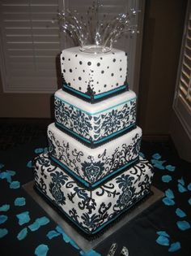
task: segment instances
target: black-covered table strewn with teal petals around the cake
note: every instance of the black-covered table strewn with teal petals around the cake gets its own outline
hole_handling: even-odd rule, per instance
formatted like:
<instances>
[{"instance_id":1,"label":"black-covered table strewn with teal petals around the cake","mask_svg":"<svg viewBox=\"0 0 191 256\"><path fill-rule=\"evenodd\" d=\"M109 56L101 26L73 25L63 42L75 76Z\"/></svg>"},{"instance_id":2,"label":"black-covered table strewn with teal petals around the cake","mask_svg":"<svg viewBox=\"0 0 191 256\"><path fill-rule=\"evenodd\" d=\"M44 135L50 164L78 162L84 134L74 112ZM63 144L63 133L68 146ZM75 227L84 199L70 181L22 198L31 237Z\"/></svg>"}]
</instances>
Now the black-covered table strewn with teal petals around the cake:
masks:
<instances>
[{"instance_id":1,"label":"black-covered table strewn with teal petals around the cake","mask_svg":"<svg viewBox=\"0 0 191 256\"><path fill-rule=\"evenodd\" d=\"M191 165L182 161L168 145L142 143L142 152L155 166L153 184L163 190L166 200L161 199L144 210L87 254L57 228L57 223L22 187L33 180L31 161L46 150L45 147L46 141L42 139L0 151L1 256L106 256L114 242L118 245L115 256L120 255L123 246L129 249L129 256L191 254L191 228L188 227L188 223L191 224ZM26 219L19 217L23 213ZM162 245L157 242L161 239ZM176 242L180 242L180 249L169 252L176 247Z\"/></svg>"}]
</instances>

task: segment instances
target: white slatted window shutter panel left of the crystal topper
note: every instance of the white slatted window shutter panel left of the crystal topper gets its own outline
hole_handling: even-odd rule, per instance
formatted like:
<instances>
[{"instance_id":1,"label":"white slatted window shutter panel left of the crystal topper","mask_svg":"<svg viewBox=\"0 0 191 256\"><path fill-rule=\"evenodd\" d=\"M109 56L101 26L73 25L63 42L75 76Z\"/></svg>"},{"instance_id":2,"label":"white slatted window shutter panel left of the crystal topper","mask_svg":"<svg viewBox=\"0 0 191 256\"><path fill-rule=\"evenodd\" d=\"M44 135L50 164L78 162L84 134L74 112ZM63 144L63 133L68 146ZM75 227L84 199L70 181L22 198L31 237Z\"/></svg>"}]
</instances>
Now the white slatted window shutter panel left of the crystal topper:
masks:
<instances>
[{"instance_id":1,"label":"white slatted window shutter panel left of the crystal topper","mask_svg":"<svg viewBox=\"0 0 191 256\"><path fill-rule=\"evenodd\" d=\"M50 93L57 89L60 29L52 20L58 0L2 0L1 71L5 93Z\"/></svg>"}]
</instances>

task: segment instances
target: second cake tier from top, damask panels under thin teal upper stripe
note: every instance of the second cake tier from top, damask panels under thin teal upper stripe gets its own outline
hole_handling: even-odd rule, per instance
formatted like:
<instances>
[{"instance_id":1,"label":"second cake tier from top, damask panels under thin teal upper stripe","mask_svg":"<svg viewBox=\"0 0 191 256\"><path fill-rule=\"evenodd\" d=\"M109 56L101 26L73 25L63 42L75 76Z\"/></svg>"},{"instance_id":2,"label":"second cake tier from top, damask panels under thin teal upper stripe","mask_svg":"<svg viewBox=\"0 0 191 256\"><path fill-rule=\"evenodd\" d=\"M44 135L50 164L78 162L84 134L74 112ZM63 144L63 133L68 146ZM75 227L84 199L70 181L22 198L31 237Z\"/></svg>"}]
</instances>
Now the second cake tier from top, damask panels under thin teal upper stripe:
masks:
<instances>
[{"instance_id":1,"label":"second cake tier from top, damask panels under thin teal upper stripe","mask_svg":"<svg viewBox=\"0 0 191 256\"><path fill-rule=\"evenodd\" d=\"M91 104L59 89L55 93L54 108L58 128L91 147L135 128L136 94L133 91Z\"/></svg>"}]
</instances>

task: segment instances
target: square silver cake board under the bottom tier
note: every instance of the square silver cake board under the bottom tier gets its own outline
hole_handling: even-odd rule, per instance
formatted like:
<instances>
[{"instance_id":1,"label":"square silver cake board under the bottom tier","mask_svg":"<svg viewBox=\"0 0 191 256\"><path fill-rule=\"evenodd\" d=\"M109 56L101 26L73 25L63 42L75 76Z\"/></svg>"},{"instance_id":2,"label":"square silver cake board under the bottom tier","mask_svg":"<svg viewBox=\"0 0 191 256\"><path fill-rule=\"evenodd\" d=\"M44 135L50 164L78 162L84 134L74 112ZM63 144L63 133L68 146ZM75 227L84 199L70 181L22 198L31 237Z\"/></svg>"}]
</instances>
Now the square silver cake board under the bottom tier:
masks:
<instances>
[{"instance_id":1,"label":"square silver cake board under the bottom tier","mask_svg":"<svg viewBox=\"0 0 191 256\"><path fill-rule=\"evenodd\" d=\"M105 232L102 236L99 236L96 240L87 241L82 235L79 234L73 227L70 226L66 220L62 219L62 216L57 213L56 210L53 209L45 200L34 189L34 181L30 181L27 184L23 185L23 189L27 191L27 193L45 210L45 212L52 218L55 223L57 223L63 230L66 232L71 239L73 239L79 248L83 249L84 252L89 251L90 249L95 248L101 242L103 242L108 236L111 236L114 232L117 232L118 229L123 227L125 223L128 223L131 219L134 219L137 215L139 215L143 210L146 210L149 206L157 202L161 197L163 197L163 192L159 189L156 189L154 186L151 186L151 191L153 194L151 197L142 204L138 205L134 208L134 210L130 210L125 217L121 219L121 221L115 223L112 228L108 228L108 231Z\"/></svg>"}]
</instances>

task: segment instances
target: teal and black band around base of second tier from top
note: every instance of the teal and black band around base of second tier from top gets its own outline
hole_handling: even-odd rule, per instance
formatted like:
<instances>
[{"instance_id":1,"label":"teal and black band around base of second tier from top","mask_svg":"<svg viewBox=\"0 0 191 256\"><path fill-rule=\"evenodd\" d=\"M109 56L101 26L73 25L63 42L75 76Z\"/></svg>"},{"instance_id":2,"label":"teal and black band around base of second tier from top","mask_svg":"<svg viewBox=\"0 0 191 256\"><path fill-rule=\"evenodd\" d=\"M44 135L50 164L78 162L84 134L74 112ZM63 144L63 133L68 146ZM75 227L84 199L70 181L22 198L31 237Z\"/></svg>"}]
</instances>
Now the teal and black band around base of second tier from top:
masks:
<instances>
[{"instance_id":1,"label":"teal and black band around base of second tier from top","mask_svg":"<svg viewBox=\"0 0 191 256\"><path fill-rule=\"evenodd\" d=\"M135 125L135 123L134 123L134 124L131 124L131 125L129 125L128 127L124 128L124 129L121 129L120 131L113 132L112 134L108 135L107 137L104 137L104 138L100 139L100 141L90 141L90 140L88 140L88 139L86 139L86 138L80 136L78 133L76 133L76 132L74 132L74 131L71 131L69 128L66 128L66 126L64 126L63 124L57 123L57 121L56 121L56 124L57 124L57 126L59 126L60 128L62 128L63 130L66 130L67 132L72 133L75 137L78 137L79 139L81 139L81 140L83 140L83 141L86 141L86 142L89 143L89 144L91 144L91 143L93 143L93 144L99 144L99 143L101 143L101 142L103 142L103 141L106 141L106 140L108 140L108 139L111 139L112 137L115 137L115 136L119 135L119 134L122 133L122 132L125 132L125 131L129 130L129 128L131 128L131 127L133 127L133 126Z\"/></svg>"}]
</instances>

